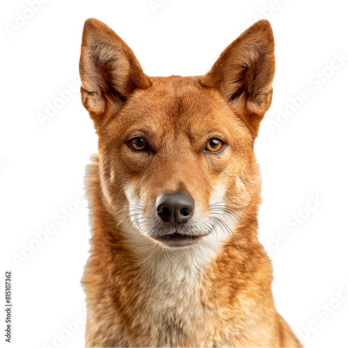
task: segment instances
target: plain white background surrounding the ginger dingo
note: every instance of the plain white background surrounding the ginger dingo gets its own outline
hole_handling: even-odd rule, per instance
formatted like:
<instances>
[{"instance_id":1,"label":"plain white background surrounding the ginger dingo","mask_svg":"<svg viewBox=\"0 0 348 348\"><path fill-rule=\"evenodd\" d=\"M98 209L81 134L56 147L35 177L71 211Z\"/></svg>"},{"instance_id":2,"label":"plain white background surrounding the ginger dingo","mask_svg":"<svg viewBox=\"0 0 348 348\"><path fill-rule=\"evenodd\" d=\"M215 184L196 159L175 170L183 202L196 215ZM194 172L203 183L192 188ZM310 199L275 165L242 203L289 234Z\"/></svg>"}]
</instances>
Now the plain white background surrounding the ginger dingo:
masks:
<instances>
[{"instance_id":1,"label":"plain white background surrounding the ginger dingo","mask_svg":"<svg viewBox=\"0 0 348 348\"><path fill-rule=\"evenodd\" d=\"M34 13L26 1L1 4L1 277L4 283L4 271L13 271L12 346L84 346L84 320L71 324L85 314L79 281L90 232L79 190L97 151L76 92L84 20L108 24L145 73L166 76L204 74L239 33L265 17L274 29L276 77L255 152L263 179L260 240L274 264L276 306L306 347L347 347L347 6L338 0L156 3L46 0ZM19 23L20 15L32 16ZM335 56L343 57L340 63ZM57 103L72 83L78 87L70 100L40 123L47 102ZM320 201L310 203L313 196ZM38 244L34 232L47 225L55 232ZM3 334L0 340L2 347Z\"/></svg>"}]
</instances>

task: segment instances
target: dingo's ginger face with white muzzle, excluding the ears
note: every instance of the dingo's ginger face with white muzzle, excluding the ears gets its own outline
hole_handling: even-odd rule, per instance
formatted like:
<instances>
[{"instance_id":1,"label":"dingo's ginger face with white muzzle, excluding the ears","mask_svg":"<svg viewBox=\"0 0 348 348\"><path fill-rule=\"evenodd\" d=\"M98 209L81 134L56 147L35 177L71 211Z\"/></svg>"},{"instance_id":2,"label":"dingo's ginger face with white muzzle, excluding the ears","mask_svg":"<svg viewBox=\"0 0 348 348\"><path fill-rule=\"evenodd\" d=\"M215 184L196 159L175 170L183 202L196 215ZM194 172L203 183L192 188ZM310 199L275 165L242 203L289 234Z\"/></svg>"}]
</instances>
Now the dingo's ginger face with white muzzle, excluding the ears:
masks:
<instances>
[{"instance_id":1,"label":"dingo's ginger face with white muzzle, excluding the ears","mask_svg":"<svg viewBox=\"0 0 348 348\"><path fill-rule=\"evenodd\" d=\"M226 205L225 195L239 200L253 137L198 79L166 80L133 93L100 132L102 183L113 214L129 207L143 235L179 247L214 232L219 208L238 219L246 202Z\"/></svg>"}]
</instances>

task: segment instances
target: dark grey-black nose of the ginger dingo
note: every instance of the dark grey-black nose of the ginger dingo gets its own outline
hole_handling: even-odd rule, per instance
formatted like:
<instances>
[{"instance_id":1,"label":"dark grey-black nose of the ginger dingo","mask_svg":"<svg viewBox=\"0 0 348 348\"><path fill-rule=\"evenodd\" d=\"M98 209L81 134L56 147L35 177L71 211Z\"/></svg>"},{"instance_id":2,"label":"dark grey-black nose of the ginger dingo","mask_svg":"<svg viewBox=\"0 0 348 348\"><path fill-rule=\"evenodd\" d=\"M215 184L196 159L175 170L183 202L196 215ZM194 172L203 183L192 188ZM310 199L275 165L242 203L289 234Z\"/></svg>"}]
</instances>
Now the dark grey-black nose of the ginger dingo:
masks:
<instances>
[{"instance_id":1,"label":"dark grey-black nose of the ginger dingo","mask_svg":"<svg viewBox=\"0 0 348 348\"><path fill-rule=\"evenodd\" d=\"M166 223L187 223L193 214L195 201L186 192L164 192L157 198L157 214Z\"/></svg>"}]
</instances>

